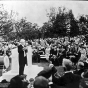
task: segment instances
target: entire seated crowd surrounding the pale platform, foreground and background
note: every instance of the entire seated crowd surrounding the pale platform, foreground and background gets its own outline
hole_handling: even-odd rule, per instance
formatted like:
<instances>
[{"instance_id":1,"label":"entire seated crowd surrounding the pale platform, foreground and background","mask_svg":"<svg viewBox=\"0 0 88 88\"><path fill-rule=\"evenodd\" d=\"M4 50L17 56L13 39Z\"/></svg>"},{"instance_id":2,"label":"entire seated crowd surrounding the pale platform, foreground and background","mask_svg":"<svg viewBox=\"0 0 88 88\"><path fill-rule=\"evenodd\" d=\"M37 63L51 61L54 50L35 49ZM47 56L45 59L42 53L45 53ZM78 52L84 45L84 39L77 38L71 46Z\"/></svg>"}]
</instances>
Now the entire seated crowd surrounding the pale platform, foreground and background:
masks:
<instances>
[{"instance_id":1,"label":"entire seated crowd surrounding the pale platform, foreground and background","mask_svg":"<svg viewBox=\"0 0 88 88\"><path fill-rule=\"evenodd\" d=\"M35 79L15 76L8 88L88 88L88 43L84 36L30 40L33 62L40 63L42 55L49 63ZM3 43L0 55L10 57L19 42Z\"/></svg>"}]
</instances>

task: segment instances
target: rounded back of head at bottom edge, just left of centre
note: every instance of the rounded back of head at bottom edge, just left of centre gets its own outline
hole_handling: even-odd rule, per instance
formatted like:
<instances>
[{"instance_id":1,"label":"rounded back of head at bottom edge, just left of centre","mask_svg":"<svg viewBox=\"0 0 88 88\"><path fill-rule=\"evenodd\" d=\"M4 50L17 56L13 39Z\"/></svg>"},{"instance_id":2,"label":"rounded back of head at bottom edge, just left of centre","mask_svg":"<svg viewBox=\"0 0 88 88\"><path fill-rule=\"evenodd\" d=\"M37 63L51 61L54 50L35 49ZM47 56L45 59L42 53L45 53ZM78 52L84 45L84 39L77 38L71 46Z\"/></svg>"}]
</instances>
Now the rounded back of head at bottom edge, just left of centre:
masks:
<instances>
[{"instance_id":1,"label":"rounded back of head at bottom edge, just left of centre","mask_svg":"<svg viewBox=\"0 0 88 88\"><path fill-rule=\"evenodd\" d=\"M49 88L48 80L42 76L39 76L34 81L34 88Z\"/></svg>"}]
</instances>

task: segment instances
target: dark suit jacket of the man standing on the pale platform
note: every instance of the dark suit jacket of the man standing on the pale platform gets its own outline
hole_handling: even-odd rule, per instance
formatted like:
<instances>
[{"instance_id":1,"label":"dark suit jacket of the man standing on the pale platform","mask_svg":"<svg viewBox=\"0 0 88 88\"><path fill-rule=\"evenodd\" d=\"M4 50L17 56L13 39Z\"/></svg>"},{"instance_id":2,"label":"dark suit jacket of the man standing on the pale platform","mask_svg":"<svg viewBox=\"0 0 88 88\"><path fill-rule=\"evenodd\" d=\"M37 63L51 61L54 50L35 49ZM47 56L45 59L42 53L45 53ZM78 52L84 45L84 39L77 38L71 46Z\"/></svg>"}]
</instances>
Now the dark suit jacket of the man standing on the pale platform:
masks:
<instances>
[{"instance_id":1,"label":"dark suit jacket of the man standing on the pale platform","mask_svg":"<svg viewBox=\"0 0 88 88\"><path fill-rule=\"evenodd\" d=\"M23 46L18 46L18 53L19 53L19 65L24 66L27 64L27 57L24 56Z\"/></svg>"}]
</instances>

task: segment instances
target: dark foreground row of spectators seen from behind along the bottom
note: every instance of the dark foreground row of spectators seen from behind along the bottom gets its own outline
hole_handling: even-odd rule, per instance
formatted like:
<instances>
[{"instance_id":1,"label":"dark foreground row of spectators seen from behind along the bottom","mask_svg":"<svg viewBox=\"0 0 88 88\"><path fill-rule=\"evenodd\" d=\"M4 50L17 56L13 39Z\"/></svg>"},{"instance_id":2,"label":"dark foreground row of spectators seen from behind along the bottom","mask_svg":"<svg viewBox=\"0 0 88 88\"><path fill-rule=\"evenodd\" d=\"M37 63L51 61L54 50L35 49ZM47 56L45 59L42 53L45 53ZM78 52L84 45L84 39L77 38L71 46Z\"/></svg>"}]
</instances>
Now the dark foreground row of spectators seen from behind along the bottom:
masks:
<instances>
[{"instance_id":1,"label":"dark foreground row of spectators seen from behind along the bottom","mask_svg":"<svg viewBox=\"0 0 88 88\"><path fill-rule=\"evenodd\" d=\"M56 68L50 64L35 79L26 80L26 75L13 77L8 88L88 88L88 69L80 65L79 69L73 70L69 64Z\"/></svg>"}]
</instances>

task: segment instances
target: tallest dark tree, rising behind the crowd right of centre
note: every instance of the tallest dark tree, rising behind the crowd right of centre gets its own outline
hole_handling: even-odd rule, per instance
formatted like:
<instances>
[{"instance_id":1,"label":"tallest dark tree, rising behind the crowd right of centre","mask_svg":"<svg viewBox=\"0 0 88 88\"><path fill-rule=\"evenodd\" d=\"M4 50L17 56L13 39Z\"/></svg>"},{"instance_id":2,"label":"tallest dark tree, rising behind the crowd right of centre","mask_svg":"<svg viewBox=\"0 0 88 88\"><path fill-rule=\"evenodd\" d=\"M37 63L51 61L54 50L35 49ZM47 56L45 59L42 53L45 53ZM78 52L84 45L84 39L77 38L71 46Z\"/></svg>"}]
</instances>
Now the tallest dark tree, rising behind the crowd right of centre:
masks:
<instances>
[{"instance_id":1,"label":"tallest dark tree, rising behind the crowd right of centre","mask_svg":"<svg viewBox=\"0 0 88 88\"><path fill-rule=\"evenodd\" d=\"M72 10L65 7L52 7L50 12L47 13L49 22L52 23L50 33L56 36L66 36L68 32L71 36L79 34L78 21L75 19ZM44 26L44 25L43 25Z\"/></svg>"}]
</instances>

